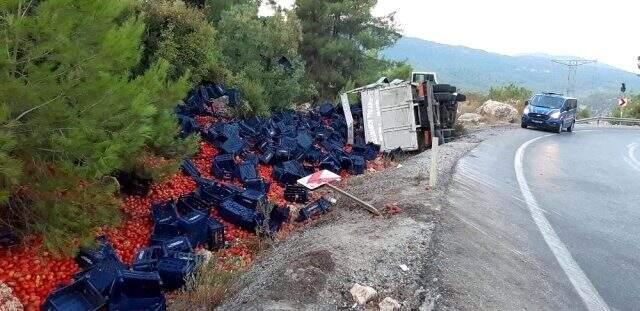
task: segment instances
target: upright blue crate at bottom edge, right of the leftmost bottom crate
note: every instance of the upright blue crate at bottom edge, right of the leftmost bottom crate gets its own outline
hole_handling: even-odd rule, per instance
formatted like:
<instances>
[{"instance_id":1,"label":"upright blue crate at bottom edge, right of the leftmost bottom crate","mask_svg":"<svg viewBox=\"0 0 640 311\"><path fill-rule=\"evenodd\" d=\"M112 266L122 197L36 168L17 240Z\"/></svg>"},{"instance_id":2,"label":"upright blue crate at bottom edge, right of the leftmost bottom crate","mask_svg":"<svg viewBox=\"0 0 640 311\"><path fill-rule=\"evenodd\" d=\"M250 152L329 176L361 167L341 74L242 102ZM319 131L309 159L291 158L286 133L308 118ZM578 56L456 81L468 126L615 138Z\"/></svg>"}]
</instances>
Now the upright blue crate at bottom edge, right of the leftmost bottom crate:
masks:
<instances>
[{"instance_id":1,"label":"upright blue crate at bottom edge, right of the leftmost bottom crate","mask_svg":"<svg viewBox=\"0 0 640 311\"><path fill-rule=\"evenodd\" d=\"M120 271L109 311L164 311L166 301L158 272Z\"/></svg>"}]
</instances>

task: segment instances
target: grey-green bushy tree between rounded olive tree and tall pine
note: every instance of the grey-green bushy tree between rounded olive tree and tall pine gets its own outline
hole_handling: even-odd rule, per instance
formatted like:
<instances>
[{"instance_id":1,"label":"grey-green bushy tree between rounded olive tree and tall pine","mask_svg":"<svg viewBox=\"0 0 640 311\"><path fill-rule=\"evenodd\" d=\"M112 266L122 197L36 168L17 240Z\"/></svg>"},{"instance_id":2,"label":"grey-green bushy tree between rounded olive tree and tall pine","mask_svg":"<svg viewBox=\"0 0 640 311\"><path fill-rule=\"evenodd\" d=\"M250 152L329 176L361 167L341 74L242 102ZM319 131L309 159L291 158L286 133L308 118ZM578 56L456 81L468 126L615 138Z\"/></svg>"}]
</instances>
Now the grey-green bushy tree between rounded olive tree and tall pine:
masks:
<instances>
[{"instance_id":1,"label":"grey-green bushy tree between rounded olive tree and tall pine","mask_svg":"<svg viewBox=\"0 0 640 311\"><path fill-rule=\"evenodd\" d=\"M314 94L305 80L298 55L300 25L288 12L258 17L258 3L236 5L222 13L218 23L222 59L230 74L227 82L243 91L250 114L290 108ZM282 65L285 57L290 65Z\"/></svg>"}]
</instances>

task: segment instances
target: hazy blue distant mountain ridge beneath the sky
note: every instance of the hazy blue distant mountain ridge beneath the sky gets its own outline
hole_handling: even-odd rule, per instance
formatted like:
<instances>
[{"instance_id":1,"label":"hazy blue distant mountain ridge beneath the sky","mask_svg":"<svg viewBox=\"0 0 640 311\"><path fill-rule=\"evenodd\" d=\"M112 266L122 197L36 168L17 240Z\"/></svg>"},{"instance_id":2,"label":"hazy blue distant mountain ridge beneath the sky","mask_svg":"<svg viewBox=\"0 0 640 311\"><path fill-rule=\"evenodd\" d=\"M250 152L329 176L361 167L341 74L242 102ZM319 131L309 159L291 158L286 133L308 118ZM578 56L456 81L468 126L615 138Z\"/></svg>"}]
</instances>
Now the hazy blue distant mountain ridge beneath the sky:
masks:
<instances>
[{"instance_id":1,"label":"hazy blue distant mountain ridge beneath the sky","mask_svg":"<svg viewBox=\"0 0 640 311\"><path fill-rule=\"evenodd\" d=\"M415 70L435 71L440 82L467 91L486 91L491 86L511 82L534 92L564 93L567 87L567 68L551 62L567 56L541 53L507 56L410 37L400 39L383 56L407 60ZM602 63L584 65L578 69L576 95L615 95L621 82L627 84L628 92L640 92L640 77L633 73Z\"/></svg>"}]
</instances>

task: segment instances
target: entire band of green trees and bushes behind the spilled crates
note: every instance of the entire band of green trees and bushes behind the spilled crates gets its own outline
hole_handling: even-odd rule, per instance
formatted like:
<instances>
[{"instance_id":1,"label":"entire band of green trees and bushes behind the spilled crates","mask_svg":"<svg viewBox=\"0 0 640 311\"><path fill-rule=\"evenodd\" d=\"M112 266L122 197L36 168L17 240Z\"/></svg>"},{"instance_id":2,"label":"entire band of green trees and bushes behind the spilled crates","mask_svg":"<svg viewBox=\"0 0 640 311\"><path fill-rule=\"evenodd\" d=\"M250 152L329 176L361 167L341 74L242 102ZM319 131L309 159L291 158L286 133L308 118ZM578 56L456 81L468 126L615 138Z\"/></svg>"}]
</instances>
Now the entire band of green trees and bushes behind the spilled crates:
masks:
<instances>
[{"instance_id":1,"label":"entire band of green trees and bushes behind the spilled crates","mask_svg":"<svg viewBox=\"0 0 640 311\"><path fill-rule=\"evenodd\" d=\"M239 88L251 116L408 77L379 57L400 35L375 5L298 0L259 17L256 0L1 2L0 230L70 253L118 224L114 177L159 180L195 151L173 109L200 83Z\"/></svg>"}]
</instances>

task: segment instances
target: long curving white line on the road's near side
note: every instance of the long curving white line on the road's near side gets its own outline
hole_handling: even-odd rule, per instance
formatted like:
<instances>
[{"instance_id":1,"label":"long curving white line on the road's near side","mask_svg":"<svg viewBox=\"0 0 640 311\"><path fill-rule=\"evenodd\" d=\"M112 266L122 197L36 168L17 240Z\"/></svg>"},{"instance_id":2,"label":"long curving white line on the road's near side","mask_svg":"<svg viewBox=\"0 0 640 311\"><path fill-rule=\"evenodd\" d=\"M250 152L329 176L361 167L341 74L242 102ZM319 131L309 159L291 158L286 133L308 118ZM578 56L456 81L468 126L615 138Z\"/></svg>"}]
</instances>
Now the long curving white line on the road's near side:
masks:
<instances>
[{"instance_id":1,"label":"long curving white line on the road's near side","mask_svg":"<svg viewBox=\"0 0 640 311\"><path fill-rule=\"evenodd\" d=\"M542 233L544 241L553 252L553 255L556 257L558 263L560 264L560 267L562 267L562 270L564 270L564 273L569 278L569 281L571 281L571 284L573 285L576 292L578 292L578 295L580 295L580 298L582 298L582 301L584 302L587 309L590 311L608 311L609 306L607 306L604 299L602 299L589 278L587 278L584 271L582 271L582 268L580 268L578 263L573 259L573 256L571 256L571 253L567 249L567 246L562 243L562 241L558 237L558 234L556 234L556 231L551 226L551 223L549 223L549 220L547 220L547 218L545 217L545 213L538 206L538 202L533 196L533 193L531 193L529 185L527 184L527 181L524 177L524 169L522 163L525 149L527 149L527 147L532 143L552 135L553 134L544 135L531 139L522 144L516 151L513 165L516 170L516 179L518 181L518 185L520 186L520 192L522 192L522 196L527 203L527 207L529 208L531 217L536 223L536 226L538 226L538 230L540 230L540 233Z\"/></svg>"}]
</instances>

